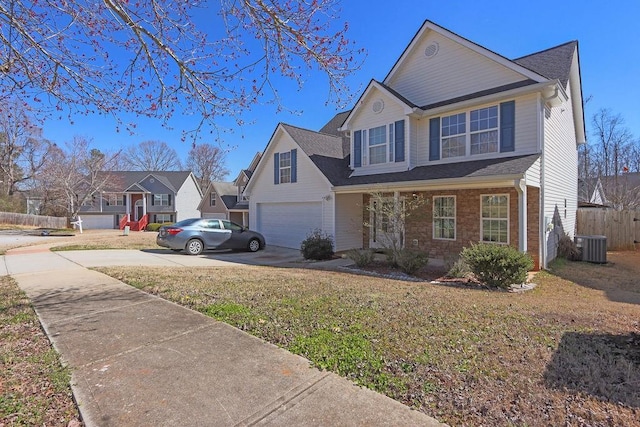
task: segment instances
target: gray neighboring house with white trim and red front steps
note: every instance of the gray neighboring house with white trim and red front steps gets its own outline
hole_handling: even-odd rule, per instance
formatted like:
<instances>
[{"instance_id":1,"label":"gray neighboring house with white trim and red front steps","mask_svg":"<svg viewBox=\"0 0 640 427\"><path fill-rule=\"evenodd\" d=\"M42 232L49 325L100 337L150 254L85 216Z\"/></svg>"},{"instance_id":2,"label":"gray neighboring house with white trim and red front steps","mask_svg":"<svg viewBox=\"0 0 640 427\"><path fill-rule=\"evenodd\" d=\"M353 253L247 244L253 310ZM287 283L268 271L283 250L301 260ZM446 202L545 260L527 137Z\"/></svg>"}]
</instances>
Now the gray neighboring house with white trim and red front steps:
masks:
<instances>
[{"instance_id":1,"label":"gray neighboring house with white trim and red front steps","mask_svg":"<svg viewBox=\"0 0 640 427\"><path fill-rule=\"evenodd\" d=\"M202 191L189 171L109 172L108 183L85 203L79 215L84 228L142 230L148 223L199 217Z\"/></svg>"}]
</instances>

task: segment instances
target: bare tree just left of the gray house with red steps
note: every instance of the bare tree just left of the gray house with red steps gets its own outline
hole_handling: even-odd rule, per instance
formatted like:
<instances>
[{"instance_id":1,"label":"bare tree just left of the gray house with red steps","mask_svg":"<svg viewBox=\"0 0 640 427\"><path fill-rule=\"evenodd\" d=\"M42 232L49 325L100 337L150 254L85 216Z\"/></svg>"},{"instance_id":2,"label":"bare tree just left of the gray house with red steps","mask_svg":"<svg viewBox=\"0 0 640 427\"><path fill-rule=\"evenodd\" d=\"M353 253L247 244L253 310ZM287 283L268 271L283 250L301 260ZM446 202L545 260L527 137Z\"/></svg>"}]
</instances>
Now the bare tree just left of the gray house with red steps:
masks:
<instances>
[{"instance_id":1,"label":"bare tree just left of the gray house with red steps","mask_svg":"<svg viewBox=\"0 0 640 427\"><path fill-rule=\"evenodd\" d=\"M109 172L118 155L91 148L91 141L83 137L75 137L66 150L54 147L52 161L39 180L43 212L77 216L82 205L93 203L97 194L116 185Z\"/></svg>"}]
</instances>

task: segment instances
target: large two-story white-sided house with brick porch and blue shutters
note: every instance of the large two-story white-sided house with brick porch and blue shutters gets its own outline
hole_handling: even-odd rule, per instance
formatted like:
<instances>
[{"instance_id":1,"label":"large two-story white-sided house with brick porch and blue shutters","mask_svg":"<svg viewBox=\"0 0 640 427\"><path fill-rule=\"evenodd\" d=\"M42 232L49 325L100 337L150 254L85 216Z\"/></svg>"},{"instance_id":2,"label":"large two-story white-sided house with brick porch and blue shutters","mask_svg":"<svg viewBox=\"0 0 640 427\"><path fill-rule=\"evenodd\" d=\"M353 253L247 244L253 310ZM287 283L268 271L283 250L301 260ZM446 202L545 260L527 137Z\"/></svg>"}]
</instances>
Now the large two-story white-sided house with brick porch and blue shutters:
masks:
<instances>
[{"instance_id":1,"label":"large two-story white-sided house with brick porch and blue shutters","mask_svg":"<svg viewBox=\"0 0 640 427\"><path fill-rule=\"evenodd\" d=\"M245 190L250 223L268 245L319 228L339 251L377 247L370 194L420 194L405 245L444 258L509 244L546 267L574 234L584 142L577 42L509 60L426 21L352 110L320 132L276 127Z\"/></svg>"}]
</instances>

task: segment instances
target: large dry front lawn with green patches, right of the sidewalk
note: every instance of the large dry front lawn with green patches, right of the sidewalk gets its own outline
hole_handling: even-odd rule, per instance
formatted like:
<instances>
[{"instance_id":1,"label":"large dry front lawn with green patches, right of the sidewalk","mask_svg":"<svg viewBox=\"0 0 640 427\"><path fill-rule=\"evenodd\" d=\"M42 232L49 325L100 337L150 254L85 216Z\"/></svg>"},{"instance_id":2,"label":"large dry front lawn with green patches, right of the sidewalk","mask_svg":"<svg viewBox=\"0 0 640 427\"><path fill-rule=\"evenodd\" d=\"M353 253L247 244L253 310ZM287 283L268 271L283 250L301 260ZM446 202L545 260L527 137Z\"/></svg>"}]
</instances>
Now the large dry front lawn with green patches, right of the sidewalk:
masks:
<instances>
[{"instance_id":1,"label":"large dry front lawn with green patches, right of the sidewalk","mask_svg":"<svg viewBox=\"0 0 640 427\"><path fill-rule=\"evenodd\" d=\"M102 271L451 425L638 425L640 306L549 273L511 294L267 267Z\"/></svg>"}]
</instances>

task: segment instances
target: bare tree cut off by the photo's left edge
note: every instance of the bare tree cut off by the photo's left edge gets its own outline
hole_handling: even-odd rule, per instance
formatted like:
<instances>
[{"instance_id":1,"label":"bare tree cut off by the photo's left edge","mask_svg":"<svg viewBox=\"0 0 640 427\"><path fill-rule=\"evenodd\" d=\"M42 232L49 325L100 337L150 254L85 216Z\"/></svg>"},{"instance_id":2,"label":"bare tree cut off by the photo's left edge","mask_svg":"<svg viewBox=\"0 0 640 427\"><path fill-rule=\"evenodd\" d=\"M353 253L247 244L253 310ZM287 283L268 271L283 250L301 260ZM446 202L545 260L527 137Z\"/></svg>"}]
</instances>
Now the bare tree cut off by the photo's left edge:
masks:
<instances>
[{"instance_id":1,"label":"bare tree cut off by the photo's left edge","mask_svg":"<svg viewBox=\"0 0 640 427\"><path fill-rule=\"evenodd\" d=\"M12 196L20 183L35 178L51 150L26 107L13 103L0 110L2 194Z\"/></svg>"}]
</instances>

